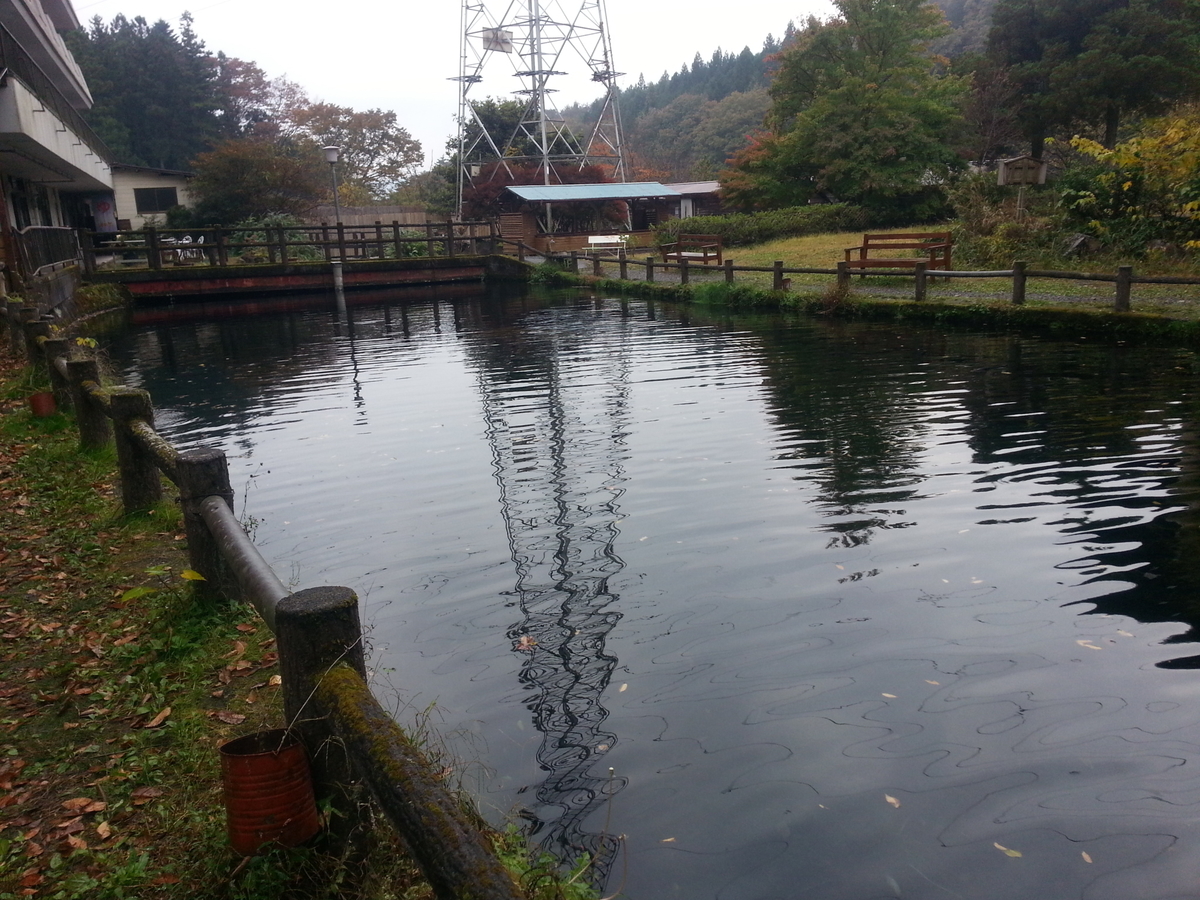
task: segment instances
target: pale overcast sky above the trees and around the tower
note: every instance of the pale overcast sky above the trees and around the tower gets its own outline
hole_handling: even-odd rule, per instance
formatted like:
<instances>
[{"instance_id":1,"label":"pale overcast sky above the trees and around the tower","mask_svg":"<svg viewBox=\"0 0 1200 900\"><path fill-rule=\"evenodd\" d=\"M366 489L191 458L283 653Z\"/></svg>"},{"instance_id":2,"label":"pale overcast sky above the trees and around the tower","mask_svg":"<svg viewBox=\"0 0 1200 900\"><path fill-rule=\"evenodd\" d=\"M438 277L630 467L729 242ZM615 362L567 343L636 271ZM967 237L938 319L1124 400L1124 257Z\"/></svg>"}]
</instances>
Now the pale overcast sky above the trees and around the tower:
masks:
<instances>
[{"instance_id":1,"label":"pale overcast sky above the trees and around the tower","mask_svg":"<svg viewBox=\"0 0 1200 900\"><path fill-rule=\"evenodd\" d=\"M356 109L394 109L400 122L421 142L426 163L442 155L455 131L458 74L460 0L73 0L80 20L118 13L167 19L176 25L191 11L196 32L212 52L252 60L268 76L286 76L308 95ZM578 0L562 0L578 10ZM488 4L502 16L506 4ZM689 0L684 5L646 0L608 0L617 71L628 86L644 73L656 79L664 70L677 72L698 50L706 59L718 47L739 52L762 49L768 34L779 37L790 19L830 14L827 0L786 4L728 0ZM582 62L564 68L581 68ZM494 73L493 73L494 70ZM485 82L472 96L508 96L516 78L498 66L485 70ZM480 90L482 89L482 90ZM592 100L566 85L559 106ZM478 94L475 92L478 91Z\"/></svg>"}]
</instances>

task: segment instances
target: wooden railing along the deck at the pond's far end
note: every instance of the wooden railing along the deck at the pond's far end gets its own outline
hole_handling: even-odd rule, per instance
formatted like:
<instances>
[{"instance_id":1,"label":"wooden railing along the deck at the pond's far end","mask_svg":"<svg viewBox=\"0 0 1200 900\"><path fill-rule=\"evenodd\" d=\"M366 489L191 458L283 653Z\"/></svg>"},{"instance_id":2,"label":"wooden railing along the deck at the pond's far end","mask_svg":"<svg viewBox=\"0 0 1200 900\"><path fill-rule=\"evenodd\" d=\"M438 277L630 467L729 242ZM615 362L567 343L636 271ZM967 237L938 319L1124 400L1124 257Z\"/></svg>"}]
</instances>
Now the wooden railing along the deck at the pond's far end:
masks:
<instances>
[{"instance_id":1,"label":"wooden railing along the deck at the pond's far end","mask_svg":"<svg viewBox=\"0 0 1200 900\"><path fill-rule=\"evenodd\" d=\"M84 272L128 266L158 270L173 265L259 265L335 259L456 257L496 252L492 222L427 222L404 226L322 223L287 228L143 228L134 232L79 230Z\"/></svg>"}]
</instances>

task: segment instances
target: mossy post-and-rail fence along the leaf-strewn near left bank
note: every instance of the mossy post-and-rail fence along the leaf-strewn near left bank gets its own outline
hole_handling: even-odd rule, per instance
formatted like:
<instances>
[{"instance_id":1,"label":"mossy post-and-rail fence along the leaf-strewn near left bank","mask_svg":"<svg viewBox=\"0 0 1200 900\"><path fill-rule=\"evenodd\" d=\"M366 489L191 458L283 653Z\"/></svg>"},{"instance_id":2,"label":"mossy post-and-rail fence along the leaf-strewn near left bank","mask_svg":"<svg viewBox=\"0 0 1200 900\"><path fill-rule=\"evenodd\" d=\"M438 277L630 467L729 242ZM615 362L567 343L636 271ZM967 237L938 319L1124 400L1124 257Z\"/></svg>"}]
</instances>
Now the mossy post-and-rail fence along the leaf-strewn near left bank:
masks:
<instances>
[{"instance_id":1,"label":"mossy post-and-rail fence along the leaf-strewn near left bank","mask_svg":"<svg viewBox=\"0 0 1200 900\"><path fill-rule=\"evenodd\" d=\"M518 900L509 872L438 781L366 682L355 593L346 587L288 590L233 514L224 451L181 451L154 427L149 392L103 388L95 359L72 359L36 307L0 310L14 353L46 371L60 408L73 407L79 445L116 444L121 503L145 510L179 490L188 562L202 589L245 600L275 632L288 727L308 751L318 798L354 822L350 786L366 785L403 835L439 900ZM2 331L0 331L2 335Z\"/></svg>"}]
</instances>

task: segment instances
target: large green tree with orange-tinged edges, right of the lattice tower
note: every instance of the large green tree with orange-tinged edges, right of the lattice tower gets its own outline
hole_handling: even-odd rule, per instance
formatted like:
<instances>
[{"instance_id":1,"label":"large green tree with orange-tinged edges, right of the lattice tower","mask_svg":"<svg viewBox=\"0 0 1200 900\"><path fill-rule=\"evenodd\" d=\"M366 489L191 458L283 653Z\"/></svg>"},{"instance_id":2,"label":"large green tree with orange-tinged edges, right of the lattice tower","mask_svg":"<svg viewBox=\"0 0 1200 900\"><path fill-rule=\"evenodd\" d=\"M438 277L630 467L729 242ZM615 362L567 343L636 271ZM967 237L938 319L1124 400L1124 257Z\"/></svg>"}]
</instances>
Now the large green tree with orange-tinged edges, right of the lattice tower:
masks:
<instances>
[{"instance_id":1,"label":"large green tree with orange-tinged edges, right of the lattice tower","mask_svg":"<svg viewBox=\"0 0 1200 900\"><path fill-rule=\"evenodd\" d=\"M940 74L930 42L942 13L922 0L836 0L779 58L767 132L722 173L740 206L798 205L816 193L877 214L922 218L960 166L966 83Z\"/></svg>"}]
</instances>

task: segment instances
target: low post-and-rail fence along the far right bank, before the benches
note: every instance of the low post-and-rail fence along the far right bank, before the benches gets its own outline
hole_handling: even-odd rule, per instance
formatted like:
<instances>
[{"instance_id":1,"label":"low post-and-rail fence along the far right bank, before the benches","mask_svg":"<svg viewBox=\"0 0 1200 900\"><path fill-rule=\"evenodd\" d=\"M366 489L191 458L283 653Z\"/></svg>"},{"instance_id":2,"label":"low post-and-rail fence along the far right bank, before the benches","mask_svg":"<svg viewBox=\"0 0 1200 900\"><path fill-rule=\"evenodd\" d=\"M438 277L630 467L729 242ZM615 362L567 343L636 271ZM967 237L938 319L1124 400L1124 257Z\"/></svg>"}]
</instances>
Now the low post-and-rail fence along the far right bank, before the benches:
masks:
<instances>
[{"instance_id":1,"label":"low post-and-rail fence along the far right bank, before the benches","mask_svg":"<svg viewBox=\"0 0 1200 900\"><path fill-rule=\"evenodd\" d=\"M533 251L528 247L522 248L524 252L532 253ZM524 253L521 253L521 258L524 258ZM989 271L944 271L936 270L930 271L925 263L917 263L914 266L905 269L871 269L870 272L865 272L858 269L852 263L840 262L834 269L814 269L814 268L788 268L784 265L784 260L776 259L774 265L734 265L732 259L726 259L720 266L708 266L708 265L695 265L690 264L686 259L682 259L677 263L665 263L654 257L646 257L644 262L640 259L630 259L628 257L619 257L617 260L601 259L599 254L588 256L582 253L564 253L547 257L576 274L586 272L586 263L590 260L592 269L590 274L596 277L602 277L605 275L605 266L612 266L616 262L618 268L618 277L622 281L630 281L630 275L637 272L641 275L638 281L654 282L656 272L665 272L672 280L678 280L680 284L691 283L692 276L697 272L702 272L709 276L722 277L728 284L736 283L736 272L769 272L772 275L772 288L774 290L787 290L791 287L791 281L787 276L790 275L832 275L838 278L838 284L844 288L848 288L851 284L851 278L853 276L869 277L876 275L886 276L900 276L908 277L913 280L913 300L920 302L924 301L929 292L929 280L930 278L1009 278L1012 280L1012 302L1014 306L1021 306L1025 304L1026 284L1030 278L1062 278L1068 281L1100 281L1111 282L1114 287L1112 294L1112 310L1115 312L1129 312L1132 310L1132 287L1134 284L1200 284L1200 278L1196 277L1182 277L1182 276L1150 276L1150 275L1134 275L1132 265L1117 266L1117 271L1112 275L1104 272L1075 272L1075 271L1056 271L1046 269L1030 269L1026 263L1013 263L1012 269L997 269Z\"/></svg>"}]
</instances>

